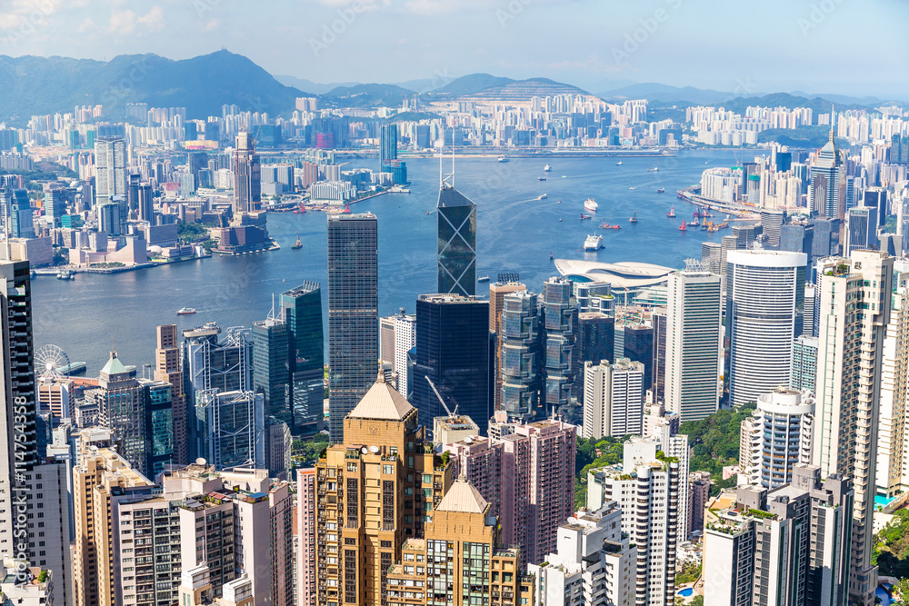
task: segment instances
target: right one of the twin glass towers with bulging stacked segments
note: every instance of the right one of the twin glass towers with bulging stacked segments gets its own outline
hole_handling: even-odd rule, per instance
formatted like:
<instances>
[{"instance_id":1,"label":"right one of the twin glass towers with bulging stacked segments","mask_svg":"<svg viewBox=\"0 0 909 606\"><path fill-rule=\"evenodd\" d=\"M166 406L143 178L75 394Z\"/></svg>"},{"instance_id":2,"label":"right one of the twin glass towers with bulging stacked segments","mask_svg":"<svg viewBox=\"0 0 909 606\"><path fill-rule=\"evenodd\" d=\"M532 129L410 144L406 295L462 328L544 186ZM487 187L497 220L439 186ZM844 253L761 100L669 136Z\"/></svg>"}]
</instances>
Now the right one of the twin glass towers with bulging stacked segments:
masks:
<instances>
[{"instance_id":1,"label":"right one of the twin glass towers with bulging stacked segments","mask_svg":"<svg viewBox=\"0 0 909 606\"><path fill-rule=\"evenodd\" d=\"M567 411L572 400L574 373L574 339L577 335L577 308L572 297L572 283L567 278L553 277L543 284L540 303L542 317L543 388L541 405L547 412Z\"/></svg>"}]
</instances>

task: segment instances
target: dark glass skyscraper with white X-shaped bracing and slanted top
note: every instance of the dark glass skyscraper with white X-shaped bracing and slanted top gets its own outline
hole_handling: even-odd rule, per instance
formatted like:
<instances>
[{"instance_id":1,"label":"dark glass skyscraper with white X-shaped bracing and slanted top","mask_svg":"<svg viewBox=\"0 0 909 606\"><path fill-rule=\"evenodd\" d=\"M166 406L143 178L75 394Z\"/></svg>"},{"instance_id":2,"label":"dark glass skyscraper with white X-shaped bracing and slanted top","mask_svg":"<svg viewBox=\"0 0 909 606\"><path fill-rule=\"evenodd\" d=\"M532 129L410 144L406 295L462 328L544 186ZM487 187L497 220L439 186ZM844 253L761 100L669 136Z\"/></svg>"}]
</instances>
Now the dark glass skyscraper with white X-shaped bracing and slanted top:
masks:
<instances>
[{"instance_id":1,"label":"dark glass skyscraper with white X-shaped bracing and slanted top","mask_svg":"<svg viewBox=\"0 0 909 606\"><path fill-rule=\"evenodd\" d=\"M439 190L439 293L476 294L476 204L454 187ZM475 419L474 419L475 421Z\"/></svg>"}]
</instances>

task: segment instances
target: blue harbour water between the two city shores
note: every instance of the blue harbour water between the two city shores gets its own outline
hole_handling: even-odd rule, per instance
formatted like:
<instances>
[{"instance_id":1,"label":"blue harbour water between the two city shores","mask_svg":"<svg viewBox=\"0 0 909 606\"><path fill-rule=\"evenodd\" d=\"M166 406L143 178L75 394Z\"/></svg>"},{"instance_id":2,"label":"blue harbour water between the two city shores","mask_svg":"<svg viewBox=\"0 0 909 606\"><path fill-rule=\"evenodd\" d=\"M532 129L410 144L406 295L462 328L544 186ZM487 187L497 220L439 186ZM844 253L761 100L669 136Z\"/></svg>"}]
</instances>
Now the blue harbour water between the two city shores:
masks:
<instances>
[{"instance_id":1,"label":"blue harbour water between the two city shores","mask_svg":"<svg viewBox=\"0 0 909 606\"><path fill-rule=\"evenodd\" d=\"M708 166L743 160L733 151L622 158L622 166L609 158L556 158L548 159L553 172L545 175L545 182L537 177L544 175L547 159L504 164L494 158L459 160L455 186L477 204L477 275L495 280L497 273L519 272L522 281L539 292L544 281L557 274L550 252L555 258L682 266L687 257L700 258L704 240L719 242L724 232L679 232L679 221L691 220L694 209L679 204L675 190L697 183ZM352 165L375 168L373 164ZM407 164L411 194L385 194L353 206L355 212L378 217L382 315L402 306L412 312L418 294L436 290L436 216L426 212L435 209L438 161ZM659 172L647 172L654 166ZM665 194L657 194L658 187L664 187ZM535 199L544 193L548 199ZM578 217L588 196L597 201L599 212L582 222ZM556 204L560 199L562 204ZM665 216L672 204L678 214L674 220ZM633 211L638 224L628 223ZM603 221L621 224L622 229L596 230ZM113 275L79 274L72 282L39 276L33 281L35 346L59 345L71 361L88 363L88 376L96 376L112 342L124 363L140 368L154 363L158 324L190 328L216 321L222 327L248 326L265 318L273 293L305 280L322 283L325 302L325 214L269 214L268 228L283 247L280 251ZM594 231L603 234L605 248L581 252L584 237ZM296 233L304 248L293 251ZM480 283L477 294L486 293L488 285ZM199 313L175 315L184 306Z\"/></svg>"}]
</instances>

